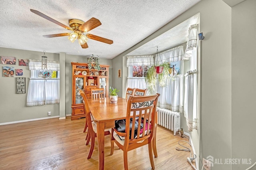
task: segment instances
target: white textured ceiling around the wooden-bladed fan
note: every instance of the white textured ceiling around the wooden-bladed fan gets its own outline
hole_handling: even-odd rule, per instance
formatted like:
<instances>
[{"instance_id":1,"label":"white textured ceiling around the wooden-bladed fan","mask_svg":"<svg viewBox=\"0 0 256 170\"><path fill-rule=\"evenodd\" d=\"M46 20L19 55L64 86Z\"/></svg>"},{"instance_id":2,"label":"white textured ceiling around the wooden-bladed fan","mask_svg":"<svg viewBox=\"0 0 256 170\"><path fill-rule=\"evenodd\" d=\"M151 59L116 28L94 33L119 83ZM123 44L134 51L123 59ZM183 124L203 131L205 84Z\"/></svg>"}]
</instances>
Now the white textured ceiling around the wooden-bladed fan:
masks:
<instances>
[{"instance_id":1,"label":"white textured ceiling around the wooden-bladed fan","mask_svg":"<svg viewBox=\"0 0 256 170\"><path fill-rule=\"evenodd\" d=\"M1 0L0 47L64 52L72 55L98 55L112 59L188 10L200 0ZM82 49L76 40L66 37L44 38L43 35L71 31L58 26L32 12L38 10L46 16L69 26L75 18L86 22L94 17L102 25L90 34L113 40L106 44L88 40Z\"/></svg>"}]
</instances>

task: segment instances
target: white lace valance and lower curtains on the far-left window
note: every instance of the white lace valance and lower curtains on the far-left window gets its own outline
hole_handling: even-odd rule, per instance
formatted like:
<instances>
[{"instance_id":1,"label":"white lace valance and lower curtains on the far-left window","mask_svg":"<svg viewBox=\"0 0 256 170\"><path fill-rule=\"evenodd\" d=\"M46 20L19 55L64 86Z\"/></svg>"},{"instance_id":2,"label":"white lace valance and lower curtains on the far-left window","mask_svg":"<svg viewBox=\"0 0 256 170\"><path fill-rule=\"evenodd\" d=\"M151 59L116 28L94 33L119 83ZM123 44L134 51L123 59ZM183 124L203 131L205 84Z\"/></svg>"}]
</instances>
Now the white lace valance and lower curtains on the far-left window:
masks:
<instances>
[{"instance_id":1,"label":"white lace valance and lower curtains on the far-left window","mask_svg":"<svg viewBox=\"0 0 256 170\"><path fill-rule=\"evenodd\" d=\"M41 70L42 61L29 60L30 70ZM59 71L60 63L47 61L47 70ZM30 77L35 77L31 72ZM27 106L60 103L59 79L30 79L28 84Z\"/></svg>"}]
</instances>

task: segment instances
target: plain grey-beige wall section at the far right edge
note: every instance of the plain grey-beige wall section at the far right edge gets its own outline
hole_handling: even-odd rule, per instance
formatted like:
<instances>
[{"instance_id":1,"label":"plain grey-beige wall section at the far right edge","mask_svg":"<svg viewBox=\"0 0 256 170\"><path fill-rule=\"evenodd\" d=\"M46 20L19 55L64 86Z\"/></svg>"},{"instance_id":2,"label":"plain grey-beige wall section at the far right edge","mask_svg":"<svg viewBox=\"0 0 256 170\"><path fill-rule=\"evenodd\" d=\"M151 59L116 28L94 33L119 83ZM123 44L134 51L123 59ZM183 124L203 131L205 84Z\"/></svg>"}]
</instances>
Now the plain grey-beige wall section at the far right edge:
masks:
<instances>
[{"instance_id":1,"label":"plain grey-beige wall section at the far right edge","mask_svg":"<svg viewBox=\"0 0 256 170\"><path fill-rule=\"evenodd\" d=\"M256 0L232 7L232 158L256 162ZM230 134L226 134L230 135ZM233 164L232 170L251 164ZM256 167L254 167L256 170Z\"/></svg>"}]
</instances>

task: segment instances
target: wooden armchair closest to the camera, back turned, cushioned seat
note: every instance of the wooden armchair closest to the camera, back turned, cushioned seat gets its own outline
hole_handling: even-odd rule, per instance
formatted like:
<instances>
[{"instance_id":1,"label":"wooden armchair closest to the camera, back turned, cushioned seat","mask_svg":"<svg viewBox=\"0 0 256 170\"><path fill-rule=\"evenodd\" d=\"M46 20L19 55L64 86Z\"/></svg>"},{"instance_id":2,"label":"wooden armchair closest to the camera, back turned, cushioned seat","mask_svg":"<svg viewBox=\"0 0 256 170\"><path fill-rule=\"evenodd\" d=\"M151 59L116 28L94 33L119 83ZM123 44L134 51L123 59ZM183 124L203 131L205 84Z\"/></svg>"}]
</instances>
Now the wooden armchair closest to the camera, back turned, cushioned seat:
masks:
<instances>
[{"instance_id":1,"label":"wooden armchair closest to the camera, back turned, cushioned seat","mask_svg":"<svg viewBox=\"0 0 256 170\"><path fill-rule=\"evenodd\" d=\"M116 127L111 130L111 140L114 140L116 145L124 151L125 170L128 170L127 152L146 144L148 144L151 167L155 169L152 145L156 133L155 115L159 96L159 93L152 96L130 96L127 104L125 131L119 132ZM110 154L113 152L114 146L111 146Z\"/></svg>"}]
</instances>

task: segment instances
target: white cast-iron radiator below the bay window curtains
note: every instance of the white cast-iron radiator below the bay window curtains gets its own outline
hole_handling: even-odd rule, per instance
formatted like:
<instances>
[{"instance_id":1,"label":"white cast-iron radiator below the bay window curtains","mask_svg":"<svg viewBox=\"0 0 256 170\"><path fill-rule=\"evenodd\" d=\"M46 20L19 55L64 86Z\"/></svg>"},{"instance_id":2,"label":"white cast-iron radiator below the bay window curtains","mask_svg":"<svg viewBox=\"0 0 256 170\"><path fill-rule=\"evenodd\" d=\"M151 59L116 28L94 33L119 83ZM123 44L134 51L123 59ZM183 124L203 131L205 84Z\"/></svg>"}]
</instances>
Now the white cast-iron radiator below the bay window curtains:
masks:
<instances>
[{"instance_id":1,"label":"white cast-iron radiator below the bay window curtains","mask_svg":"<svg viewBox=\"0 0 256 170\"><path fill-rule=\"evenodd\" d=\"M173 131L174 136L180 129L180 113L168 109L158 109L158 125L168 128Z\"/></svg>"}]
</instances>

